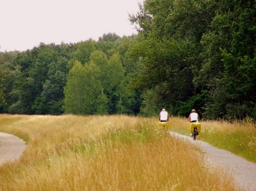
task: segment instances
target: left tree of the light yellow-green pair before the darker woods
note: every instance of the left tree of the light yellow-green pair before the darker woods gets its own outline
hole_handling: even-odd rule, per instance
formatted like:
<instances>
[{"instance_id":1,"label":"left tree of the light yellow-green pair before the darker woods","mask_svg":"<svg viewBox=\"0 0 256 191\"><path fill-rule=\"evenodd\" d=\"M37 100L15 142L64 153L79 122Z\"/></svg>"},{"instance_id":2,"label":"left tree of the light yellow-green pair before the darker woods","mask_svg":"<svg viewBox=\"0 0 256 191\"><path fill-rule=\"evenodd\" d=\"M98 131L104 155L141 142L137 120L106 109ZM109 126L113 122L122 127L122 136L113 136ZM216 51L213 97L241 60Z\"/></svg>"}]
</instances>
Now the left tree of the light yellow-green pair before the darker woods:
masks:
<instances>
[{"instance_id":1,"label":"left tree of the light yellow-green pair before the darker woods","mask_svg":"<svg viewBox=\"0 0 256 191\"><path fill-rule=\"evenodd\" d=\"M103 97L103 94L99 69L93 62L82 66L81 62L75 61L69 71L64 93L65 113L88 115L95 114L97 109L103 112L97 106L97 98L99 95Z\"/></svg>"}]
</instances>

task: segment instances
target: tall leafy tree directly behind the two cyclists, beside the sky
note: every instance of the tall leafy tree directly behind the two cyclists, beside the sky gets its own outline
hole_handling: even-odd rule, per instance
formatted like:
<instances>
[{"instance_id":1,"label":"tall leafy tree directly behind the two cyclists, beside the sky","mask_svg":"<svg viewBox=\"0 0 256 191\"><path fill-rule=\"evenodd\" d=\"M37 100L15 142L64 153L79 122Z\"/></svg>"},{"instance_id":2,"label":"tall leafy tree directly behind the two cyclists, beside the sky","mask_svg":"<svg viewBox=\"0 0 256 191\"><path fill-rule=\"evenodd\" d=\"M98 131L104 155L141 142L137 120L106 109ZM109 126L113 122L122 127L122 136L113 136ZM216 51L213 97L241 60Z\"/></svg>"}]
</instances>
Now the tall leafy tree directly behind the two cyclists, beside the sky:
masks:
<instances>
[{"instance_id":1,"label":"tall leafy tree directly behind the two cyclists, beside the sky","mask_svg":"<svg viewBox=\"0 0 256 191\"><path fill-rule=\"evenodd\" d=\"M145 37L135 49L140 54L135 87L143 88L145 99L152 99L147 94L155 92L154 107L165 106L177 114L180 103L201 93L194 88L194 67L200 63L200 41L214 13L210 1L146 0L131 15L131 22L139 25Z\"/></svg>"}]
</instances>

